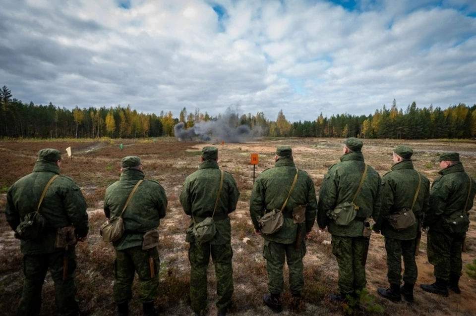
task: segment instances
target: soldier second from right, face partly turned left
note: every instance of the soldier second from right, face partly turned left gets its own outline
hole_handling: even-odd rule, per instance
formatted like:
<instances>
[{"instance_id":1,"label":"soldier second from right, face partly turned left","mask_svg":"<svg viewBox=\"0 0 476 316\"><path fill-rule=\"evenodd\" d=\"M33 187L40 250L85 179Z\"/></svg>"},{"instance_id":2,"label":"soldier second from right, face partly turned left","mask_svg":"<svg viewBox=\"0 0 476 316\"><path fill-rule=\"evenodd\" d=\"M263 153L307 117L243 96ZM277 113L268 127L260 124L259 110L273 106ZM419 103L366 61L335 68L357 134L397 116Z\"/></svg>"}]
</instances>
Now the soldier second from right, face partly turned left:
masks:
<instances>
[{"instance_id":1,"label":"soldier second from right, face partly turned left","mask_svg":"<svg viewBox=\"0 0 476 316\"><path fill-rule=\"evenodd\" d=\"M381 231L385 236L387 277L390 283L389 289L379 288L377 292L393 302L400 302L401 294L408 302L414 302L413 288L417 276L415 254L418 251L416 239L418 234L421 237L423 214L429 207L430 181L414 169L412 155L413 150L408 146L401 145L394 149L394 165L392 171L382 177L382 206L373 226L375 232ZM415 222L406 220L411 217L411 212ZM390 224L395 218L399 220L398 226ZM400 287L402 256L405 283Z\"/></svg>"}]
</instances>

